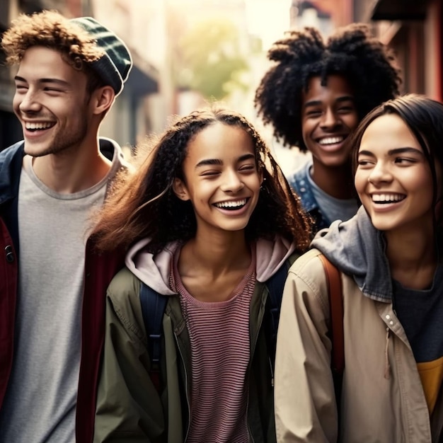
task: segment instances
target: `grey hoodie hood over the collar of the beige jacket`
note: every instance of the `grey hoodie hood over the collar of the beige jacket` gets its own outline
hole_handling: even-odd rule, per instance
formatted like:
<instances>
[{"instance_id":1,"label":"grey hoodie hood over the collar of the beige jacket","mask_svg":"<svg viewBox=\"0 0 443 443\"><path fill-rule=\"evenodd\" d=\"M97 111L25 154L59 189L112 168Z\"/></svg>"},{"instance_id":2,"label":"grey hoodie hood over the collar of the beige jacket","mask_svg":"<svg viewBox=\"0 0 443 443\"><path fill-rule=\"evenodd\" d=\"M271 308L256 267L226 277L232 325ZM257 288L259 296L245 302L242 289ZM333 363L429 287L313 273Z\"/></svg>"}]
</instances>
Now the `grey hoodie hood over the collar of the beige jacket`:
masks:
<instances>
[{"instance_id":1,"label":"grey hoodie hood over the collar of the beige jacket","mask_svg":"<svg viewBox=\"0 0 443 443\"><path fill-rule=\"evenodd\" d=\"M392 282L381 231L374 228L363 206L347 222L333 222L318 232L311 243L347 275L362 293L378 301L390 302Z\"/></svg>"}]
</instances>

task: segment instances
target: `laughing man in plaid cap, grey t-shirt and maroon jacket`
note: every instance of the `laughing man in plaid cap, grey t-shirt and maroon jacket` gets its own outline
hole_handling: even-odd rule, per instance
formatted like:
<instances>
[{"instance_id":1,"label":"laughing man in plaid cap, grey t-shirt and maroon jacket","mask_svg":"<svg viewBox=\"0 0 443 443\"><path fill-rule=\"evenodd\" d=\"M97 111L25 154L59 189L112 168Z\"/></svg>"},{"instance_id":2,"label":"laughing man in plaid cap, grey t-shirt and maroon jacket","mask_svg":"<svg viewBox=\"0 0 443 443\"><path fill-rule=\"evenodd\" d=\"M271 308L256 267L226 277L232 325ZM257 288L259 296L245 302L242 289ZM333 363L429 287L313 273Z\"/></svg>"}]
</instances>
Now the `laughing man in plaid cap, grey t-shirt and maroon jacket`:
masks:
<instances>
[{"instance_id":1,"label":"laughing man in plaid cap, grey t-shirt and maroon jacket","mask_svg":"<svg viewBox=\"0 0 443 443\"><path fill-rule=\"evenodd\" d=\"M105 288L122 266L88 238L125 170L98 130L132 59L93 18L56 11L19 16L1 45L23 141L0 154L0 442L88 442Z\"/></svg>"}]
</instances>

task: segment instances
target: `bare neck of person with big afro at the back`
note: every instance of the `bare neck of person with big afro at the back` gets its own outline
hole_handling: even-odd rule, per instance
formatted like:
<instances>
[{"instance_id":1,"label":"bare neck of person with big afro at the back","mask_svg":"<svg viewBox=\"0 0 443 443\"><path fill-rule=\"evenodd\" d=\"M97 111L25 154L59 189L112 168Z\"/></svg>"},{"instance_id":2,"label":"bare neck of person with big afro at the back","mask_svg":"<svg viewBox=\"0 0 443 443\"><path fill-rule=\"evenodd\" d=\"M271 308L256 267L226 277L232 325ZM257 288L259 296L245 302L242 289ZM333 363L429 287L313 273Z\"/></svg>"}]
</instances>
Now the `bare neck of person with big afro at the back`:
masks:
<instances>
[{"instance_id":1,"label":"bare neck of person with big afro at the back","mask_svg":"<svg viewBox=\"0 0 443 443\"><path fill-rule=\"evenodd\" d=\"M313 159L311 178L318 188L332 197L345 200L354 196L352 193L352 171L348 163L329 167Z\"/></svg>"}]
</instances>

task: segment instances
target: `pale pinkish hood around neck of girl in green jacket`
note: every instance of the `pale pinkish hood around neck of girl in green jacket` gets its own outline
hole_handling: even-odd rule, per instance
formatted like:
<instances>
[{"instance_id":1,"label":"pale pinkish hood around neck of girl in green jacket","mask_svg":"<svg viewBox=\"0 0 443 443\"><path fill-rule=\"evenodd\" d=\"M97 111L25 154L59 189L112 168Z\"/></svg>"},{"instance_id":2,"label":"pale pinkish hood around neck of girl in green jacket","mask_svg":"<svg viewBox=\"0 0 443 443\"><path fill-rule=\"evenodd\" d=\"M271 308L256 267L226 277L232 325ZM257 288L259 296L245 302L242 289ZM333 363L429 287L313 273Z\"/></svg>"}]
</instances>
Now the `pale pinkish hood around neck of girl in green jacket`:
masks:
<instances>
[{"instance_id":1,"label":"pale pinkish hood around neck of girl in green jacket","mask_svg":"<svg viewBox=\"0 0 443 443\"><path fill-rule=\"evenodd\" d=\"M152 254L146 249L150 239L145 238L130 248L126 256L127 268L144 284L163 295L173 295L169 277L171 266L176 252L180 249L180 242L171 242L160 253ZM291 243L280 236L274 241L260 238L255 244L256 279L265 282L277 272L284 261L295 251L295 243Z\"/></svg>"}]
</instances>

